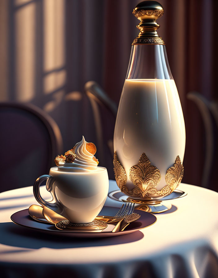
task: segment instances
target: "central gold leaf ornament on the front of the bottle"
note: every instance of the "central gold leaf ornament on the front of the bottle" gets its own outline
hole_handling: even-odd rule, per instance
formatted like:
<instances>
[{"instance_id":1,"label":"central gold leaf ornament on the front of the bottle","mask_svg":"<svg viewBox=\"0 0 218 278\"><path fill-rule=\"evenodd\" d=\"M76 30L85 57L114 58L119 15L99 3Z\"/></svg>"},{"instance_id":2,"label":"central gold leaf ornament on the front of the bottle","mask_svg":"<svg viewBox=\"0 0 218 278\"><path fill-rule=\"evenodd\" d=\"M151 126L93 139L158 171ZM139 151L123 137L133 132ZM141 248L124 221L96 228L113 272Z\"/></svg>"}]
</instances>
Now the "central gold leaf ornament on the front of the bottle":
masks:
<instances>
[{"instance_id":1,"label":"central gold leaf ornament on the front of the bottle","mask_svg":"<svg viewBox=\"0 0 218 278\"><path fill-rule=\"evenodd\" d=\"M159 184L161 175L158 168L151 165L147 155L143 153L138 164L130 168L129 178L140 190L142 198L145 198L147 192Z\"/></svg>"}]
</instances>

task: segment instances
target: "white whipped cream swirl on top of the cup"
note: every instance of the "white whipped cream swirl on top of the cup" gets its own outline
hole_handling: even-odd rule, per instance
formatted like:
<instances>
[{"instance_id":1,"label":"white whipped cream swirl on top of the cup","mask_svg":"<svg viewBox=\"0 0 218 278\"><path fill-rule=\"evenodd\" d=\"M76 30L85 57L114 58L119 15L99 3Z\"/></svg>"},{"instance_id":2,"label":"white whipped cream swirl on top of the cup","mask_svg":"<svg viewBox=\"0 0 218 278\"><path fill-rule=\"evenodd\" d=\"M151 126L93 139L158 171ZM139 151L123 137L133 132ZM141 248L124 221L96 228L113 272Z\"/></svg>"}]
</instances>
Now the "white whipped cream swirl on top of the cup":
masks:
<instances>
[{"instance_id":1,"label":"white whipped cream swirl on top of the cup","mask_svg":"<svg viewBox=\"0 0 218 278\"><path fill-rule=\"evenodd\" d=\"M97 169L98 163L93 160L93 155L89 153L86 148L86 141L84 136L82 141L74 146L76 158L73 163L64 163L58 166L58 171L64 172L91 172Z\"/></svg>"}]
</instances>

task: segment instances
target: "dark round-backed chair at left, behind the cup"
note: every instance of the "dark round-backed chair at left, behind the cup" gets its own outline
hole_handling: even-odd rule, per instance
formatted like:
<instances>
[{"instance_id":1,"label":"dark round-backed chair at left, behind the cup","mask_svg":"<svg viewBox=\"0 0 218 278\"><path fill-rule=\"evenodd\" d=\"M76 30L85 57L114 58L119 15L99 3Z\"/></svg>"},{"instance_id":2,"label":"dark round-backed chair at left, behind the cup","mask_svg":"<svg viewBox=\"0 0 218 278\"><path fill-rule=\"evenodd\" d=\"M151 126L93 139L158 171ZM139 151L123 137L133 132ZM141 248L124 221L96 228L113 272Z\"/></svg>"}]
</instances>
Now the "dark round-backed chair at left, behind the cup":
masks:
<instances>
[{"instance_id":1,"label":"dark round-backed chair at left, behind the cup","mask_svg":"<svg viewBox=\"0 0 218 278\"><path fill-rule=\"evenodd\" d=\"M0 103L0 192L31 186L62 153L55 121L30 104Z\"/></svg>"}]
</instances>

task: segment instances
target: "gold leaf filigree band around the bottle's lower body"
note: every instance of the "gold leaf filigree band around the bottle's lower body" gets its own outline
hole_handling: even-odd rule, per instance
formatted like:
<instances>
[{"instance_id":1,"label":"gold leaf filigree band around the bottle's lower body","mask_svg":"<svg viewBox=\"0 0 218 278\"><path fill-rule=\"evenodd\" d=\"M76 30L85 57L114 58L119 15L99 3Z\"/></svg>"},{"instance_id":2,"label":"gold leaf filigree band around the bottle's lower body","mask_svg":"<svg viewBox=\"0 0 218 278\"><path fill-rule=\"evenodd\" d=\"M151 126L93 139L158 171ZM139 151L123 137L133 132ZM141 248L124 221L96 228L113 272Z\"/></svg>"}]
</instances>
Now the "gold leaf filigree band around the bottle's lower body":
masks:
<instances>
[{"instance_id":1,"label":"gold leaf filigree band around the bottle's lower body","mask_svg":"<svg viewBox=\"0 0 218 278\"><path fill-rule=\"evenodd\" d=\"M175 163L166 172L165 181L167 185L158 191L156 187L160 182L160 171L150 164L148 157L143 153L138 164L132 166L129 170L129 178L135 186L132 190L129 190L126 186L126 172L118 161L116 152L114 153L113 164L116 183L120 191L131 197L157 198L167 196L179 186L184 175L183 164L181 164L180 157L177 155Z\"/></svg>"}]
</instances>

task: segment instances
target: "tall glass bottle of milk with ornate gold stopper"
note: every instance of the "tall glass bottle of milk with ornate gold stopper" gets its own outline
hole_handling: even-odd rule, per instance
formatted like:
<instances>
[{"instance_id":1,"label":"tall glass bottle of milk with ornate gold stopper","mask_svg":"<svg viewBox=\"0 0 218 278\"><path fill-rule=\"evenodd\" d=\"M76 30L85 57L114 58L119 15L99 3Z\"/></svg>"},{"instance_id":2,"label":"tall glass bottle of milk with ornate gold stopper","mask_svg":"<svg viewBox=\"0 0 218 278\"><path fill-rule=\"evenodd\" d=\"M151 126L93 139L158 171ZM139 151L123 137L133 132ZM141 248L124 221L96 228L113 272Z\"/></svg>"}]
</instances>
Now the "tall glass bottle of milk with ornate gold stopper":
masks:
<instances>
[{"instance_id":1,"label":"tall glass bottle of milk with ornate gold stopper","mask_svg":"<svg viewBox=\"0 0 218 278\"><path fill-rule=\"evenodd\" d=\"M125 194L135 199L155 199L170 194L181 182L185 123L165 44L156 31L163 7L156 1L143 1L133 15L141 20L137 26L140 33L132 44L116 117L115 177ZM148 167L151 165L160 175Z\"/></svg>"}]
</instances>

